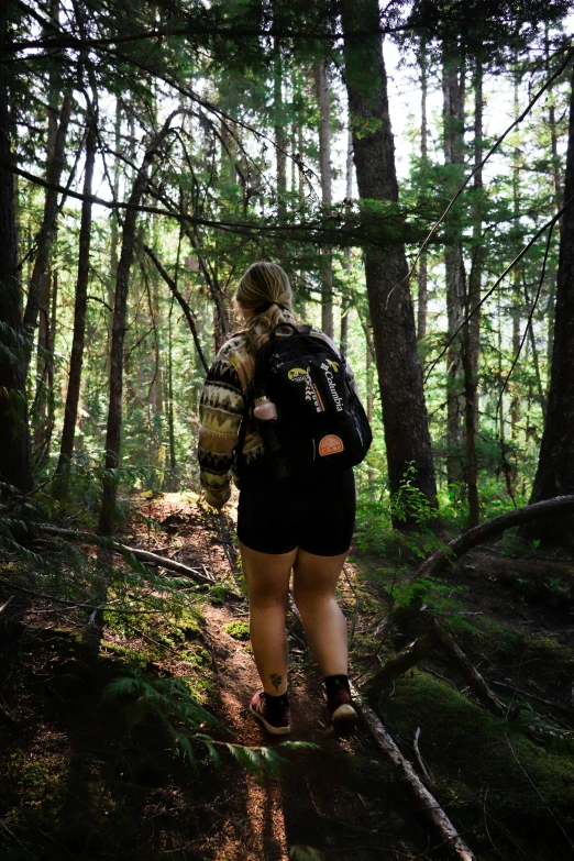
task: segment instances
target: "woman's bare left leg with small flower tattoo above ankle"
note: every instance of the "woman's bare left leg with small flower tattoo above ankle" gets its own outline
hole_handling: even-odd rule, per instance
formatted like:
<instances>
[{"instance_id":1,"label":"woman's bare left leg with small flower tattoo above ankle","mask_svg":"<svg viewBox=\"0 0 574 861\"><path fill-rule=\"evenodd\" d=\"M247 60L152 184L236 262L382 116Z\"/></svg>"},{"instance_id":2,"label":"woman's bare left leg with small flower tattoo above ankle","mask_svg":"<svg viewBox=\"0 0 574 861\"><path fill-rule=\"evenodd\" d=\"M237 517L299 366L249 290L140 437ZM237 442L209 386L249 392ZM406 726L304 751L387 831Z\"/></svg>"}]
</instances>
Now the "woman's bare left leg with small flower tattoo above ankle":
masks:
<instances>
[{"instance_id":1,"label":"woman's bare left leg with small flower tattoo above ankle","mask_svg":"<svg viewBox=\"0 0 574 861\"><path fill-rule=\"evenodd\" d=\"M240 550L250 595L250 633L255 665L265 693L279 696L287 691L285 608L297 550L260 553L241 542Z\"/></svg>"}]
</instances>

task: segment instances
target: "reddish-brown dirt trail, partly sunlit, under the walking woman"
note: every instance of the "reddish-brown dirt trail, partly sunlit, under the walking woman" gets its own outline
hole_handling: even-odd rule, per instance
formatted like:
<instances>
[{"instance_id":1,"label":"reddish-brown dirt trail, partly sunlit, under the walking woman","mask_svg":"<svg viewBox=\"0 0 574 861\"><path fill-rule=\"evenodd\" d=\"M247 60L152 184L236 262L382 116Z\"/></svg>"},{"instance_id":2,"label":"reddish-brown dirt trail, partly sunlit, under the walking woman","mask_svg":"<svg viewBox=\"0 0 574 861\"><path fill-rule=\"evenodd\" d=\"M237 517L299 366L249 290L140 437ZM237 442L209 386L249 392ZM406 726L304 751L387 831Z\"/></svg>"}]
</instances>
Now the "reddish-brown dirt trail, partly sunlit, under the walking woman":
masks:
<instances>
[{"instance_id":1,"label":"reddish-brown dirt trail, partly sunlit, under the walking woman","mask_svg":"<svg viewBox=\"0 0 574 861\"><path fill-rule=\"evenodd\" d=\"M178 561L200 569L205 565L218 579L231 579L238 587L238 558L229 541L233 508L220 517L208 516L206 522L203 512L198 517L196 506L183 503L178 496L166 496L144 505L141 512L166 530L163 548L167 543L168 555L175 544ZM141 547L157 551L150 540L142 543L141 531L134 538ZM352 582L354 565L347 564L346 572ZM343 604L352 606L351 585L344 578L341 593ZM238 639L227 630L235 621L247 622L246 606L206 604L202 612L217 685L210 703L213 711L233 731L238 743L255 748L280 744L280 739L269 737L249 715L249 702L261 683L245 637ZM368 861L374 857L416 854L412 835L408 839L396 834L405 829L405 812L399 814L382 794L377 771L384 773L386 768L365 728L351 739L334 741L323 737L327 709L322 681L300 639L302 632L294 631L292 625L289 628L289 740L312 742L317 748L283 754L287 763L278 779L265 779L262 783L249 775L240 780L228 798L225 821L220 823L217 834L206 834L202 857L218 861L284 861L297 859L297 848L308 861ZM402 797L397 803L400 808L405 806ZM420 831L417 826L413 830ZM426 837L418 835L421 846ZM313 851L320 854L313 856Z\"/></svg>"}]
</instances>

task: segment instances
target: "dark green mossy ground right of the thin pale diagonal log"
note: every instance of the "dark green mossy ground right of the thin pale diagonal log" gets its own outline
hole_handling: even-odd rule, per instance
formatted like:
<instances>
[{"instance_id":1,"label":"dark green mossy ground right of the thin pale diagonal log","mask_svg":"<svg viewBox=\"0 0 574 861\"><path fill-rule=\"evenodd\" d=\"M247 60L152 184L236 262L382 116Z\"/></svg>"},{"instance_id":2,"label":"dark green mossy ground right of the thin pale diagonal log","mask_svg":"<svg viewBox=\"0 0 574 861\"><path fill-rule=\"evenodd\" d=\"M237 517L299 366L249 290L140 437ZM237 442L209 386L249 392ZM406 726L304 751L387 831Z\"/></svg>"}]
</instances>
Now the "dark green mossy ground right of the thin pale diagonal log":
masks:
<instances>
[{"instance_id":1,"label":"dark green mossy ground right of the thin pale diagonal log","mask_svg":"<svg viewBox=\"0 0 574 861\"><path fill-rule=\"evenodd\" d=\"M541 836L547 854L534 857L544 861L564 857L566 840L550 821L548 808L564 828L574 826L572 751L565 755L534 744L512 722L493 717L450 685L418 671L396 682L394 695L383 699L382 708L389 731L404 749L421 727L420 750L434 775L437 796L462 832L472 828L475 840L487 841L485 835L481 838L477 823L488 824L492 817L489 828L494 827L497 839L504 839L496 827L503 821L522 851L528 847L530 857L542 848ZM509 845L505 851L505 858L514 858L518 850Z\"/></svg>"}]
</instances>

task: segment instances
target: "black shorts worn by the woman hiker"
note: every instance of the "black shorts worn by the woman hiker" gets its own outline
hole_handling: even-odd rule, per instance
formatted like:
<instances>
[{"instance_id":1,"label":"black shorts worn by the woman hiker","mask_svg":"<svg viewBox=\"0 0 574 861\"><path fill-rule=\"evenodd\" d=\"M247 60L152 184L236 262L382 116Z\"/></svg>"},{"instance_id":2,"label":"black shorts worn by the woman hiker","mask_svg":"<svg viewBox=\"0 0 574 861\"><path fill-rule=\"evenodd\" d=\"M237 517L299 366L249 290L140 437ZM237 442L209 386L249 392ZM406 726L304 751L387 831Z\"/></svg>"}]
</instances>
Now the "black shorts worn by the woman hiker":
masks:
<instances>
[{"instance_id":1,"label":"black shorts worn by the woman hiker","mask_svg":"<svg viewBox=\"0 0 574 861\"><path fill-rule=\"evenodd\" d=\"M246 474L241 478L239 540L261 553L300 548L339 556L351 545L355 508L353 470L314 481Z\"/></svg>"}]
</instances>

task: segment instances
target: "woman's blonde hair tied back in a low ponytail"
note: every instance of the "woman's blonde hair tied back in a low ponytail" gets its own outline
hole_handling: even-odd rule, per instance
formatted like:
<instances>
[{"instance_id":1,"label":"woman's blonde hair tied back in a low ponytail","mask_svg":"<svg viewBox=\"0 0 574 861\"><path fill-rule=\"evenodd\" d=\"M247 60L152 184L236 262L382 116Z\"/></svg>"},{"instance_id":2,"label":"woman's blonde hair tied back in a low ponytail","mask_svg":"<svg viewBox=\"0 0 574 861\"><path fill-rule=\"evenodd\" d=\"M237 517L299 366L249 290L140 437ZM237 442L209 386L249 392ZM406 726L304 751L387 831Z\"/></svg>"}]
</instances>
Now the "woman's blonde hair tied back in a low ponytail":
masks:
<instances>
[{"instance_id":1,"label":"woman's blonde hair tied back in a low ponytail","mask_svg":"<svg viewBox=\"0 0 574 861\"><path fill-rule=\"evenodd\" d=\"M292 290L287 274L276 263L252 263L235 290L235 301L249 320L247 351L255 355L274 327L296 323Z\"/></svg>"}]
</instances>

